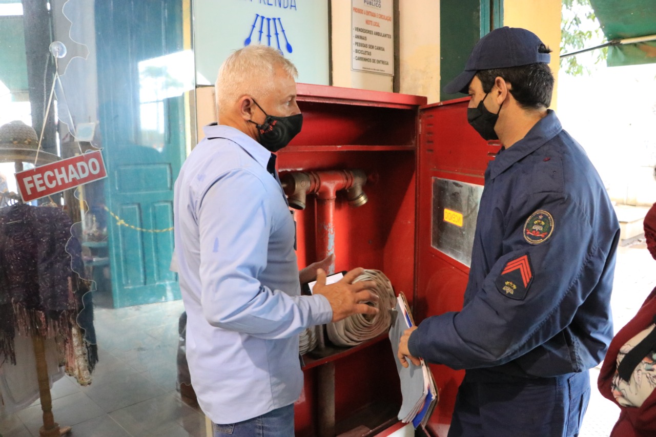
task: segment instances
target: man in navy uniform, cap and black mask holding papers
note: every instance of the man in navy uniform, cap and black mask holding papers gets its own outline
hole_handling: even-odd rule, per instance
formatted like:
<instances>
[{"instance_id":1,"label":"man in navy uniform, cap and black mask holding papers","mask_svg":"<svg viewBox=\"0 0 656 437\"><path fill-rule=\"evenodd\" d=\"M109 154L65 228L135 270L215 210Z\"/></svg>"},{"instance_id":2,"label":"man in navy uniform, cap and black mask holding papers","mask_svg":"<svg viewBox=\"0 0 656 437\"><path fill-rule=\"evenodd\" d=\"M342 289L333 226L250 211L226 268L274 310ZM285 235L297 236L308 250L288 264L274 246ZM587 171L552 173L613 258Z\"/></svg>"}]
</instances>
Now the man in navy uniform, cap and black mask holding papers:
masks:
<instances>
[{"instance_id":1,"label":"man in navy uniform, cap and black mask holding papers","mask_svg":"<svg viewBox=\"0 0 656 437\"><path fill-rule=\"evenodd\" d=\"M445 87L470 94L470 125L503 144L485 171L462 310L427 318L399 345L403 365L466 369L449 437L577 436L588 369L613 337L619 223L547 109L549 52L528 30L493 30Z\"/></svg>"}]
</instances>

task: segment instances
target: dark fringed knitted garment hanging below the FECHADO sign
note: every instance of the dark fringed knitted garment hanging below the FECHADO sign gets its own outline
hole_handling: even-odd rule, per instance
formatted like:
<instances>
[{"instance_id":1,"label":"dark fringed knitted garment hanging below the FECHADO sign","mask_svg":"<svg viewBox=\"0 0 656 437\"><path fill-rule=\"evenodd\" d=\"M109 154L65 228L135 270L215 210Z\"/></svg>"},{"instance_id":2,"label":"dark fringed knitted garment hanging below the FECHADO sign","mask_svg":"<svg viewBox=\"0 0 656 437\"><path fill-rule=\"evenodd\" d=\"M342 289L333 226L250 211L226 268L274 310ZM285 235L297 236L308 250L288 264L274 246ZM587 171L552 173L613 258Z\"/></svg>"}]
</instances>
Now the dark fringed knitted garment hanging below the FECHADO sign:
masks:
<instances>
[{"instance_id":1,"label":"dark fringed knitted garment hanging below the FECHADO sign","mask_svg":"<svg viewBox=\"0 0 656 437\"><path fill-rule=\"evenodd\" d=\"M72 220L58 208L0 209L0 363L15 364L14 335L56 339L60 365L82 385L98 361L91 299ZM80 325L78 325L78 322Z\"/></svg>"}]
</instances>

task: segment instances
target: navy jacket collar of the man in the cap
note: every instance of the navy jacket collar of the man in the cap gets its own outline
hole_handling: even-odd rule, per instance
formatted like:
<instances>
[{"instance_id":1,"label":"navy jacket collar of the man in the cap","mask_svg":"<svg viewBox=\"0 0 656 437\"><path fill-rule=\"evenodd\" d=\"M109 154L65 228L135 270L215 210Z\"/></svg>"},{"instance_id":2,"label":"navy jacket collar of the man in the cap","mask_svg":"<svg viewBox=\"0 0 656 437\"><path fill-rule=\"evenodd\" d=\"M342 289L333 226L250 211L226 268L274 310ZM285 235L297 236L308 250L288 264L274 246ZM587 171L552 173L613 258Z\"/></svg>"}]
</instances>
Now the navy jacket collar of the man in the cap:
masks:
<instances>
[{"instance_id":1,"label":"navy jacket collar of the man in the cap","mask_svg":"<svg viewBox=\"0 0 656 437\"><path fill-rule=\"evenodd\" d=\"M489 177L491 179L501 175L510 168L511 165L523 157L535 152L540 146L548 140L558 135L563 130L556 113L547 110L546 117L535 123L526 136L513 144L511 147L502 150L494 161L489 165Z\"/></svg>"}]
</instances>

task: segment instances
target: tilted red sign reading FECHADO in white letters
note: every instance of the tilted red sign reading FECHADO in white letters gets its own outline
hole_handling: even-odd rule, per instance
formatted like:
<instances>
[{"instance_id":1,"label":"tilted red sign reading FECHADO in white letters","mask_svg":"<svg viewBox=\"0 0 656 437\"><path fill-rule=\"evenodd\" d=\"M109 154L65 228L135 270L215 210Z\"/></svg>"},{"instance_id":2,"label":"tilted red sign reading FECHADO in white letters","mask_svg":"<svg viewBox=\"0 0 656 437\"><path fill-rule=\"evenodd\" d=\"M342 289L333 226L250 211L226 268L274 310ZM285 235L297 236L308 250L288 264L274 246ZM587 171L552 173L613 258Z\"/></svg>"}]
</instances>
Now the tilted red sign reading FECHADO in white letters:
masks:
<instances>
[{"instance_id":1,"label":"tilted red sign reading FECHADO in white letters","mask_svg":"<svg viewBox=\"0 0 656 437\"><path fill-rule=\"evenodd\" d=\"M21 171L16 182L20 197L28 202L106 177L102 154L94 151Z\"/></svg>"}]
</instances>

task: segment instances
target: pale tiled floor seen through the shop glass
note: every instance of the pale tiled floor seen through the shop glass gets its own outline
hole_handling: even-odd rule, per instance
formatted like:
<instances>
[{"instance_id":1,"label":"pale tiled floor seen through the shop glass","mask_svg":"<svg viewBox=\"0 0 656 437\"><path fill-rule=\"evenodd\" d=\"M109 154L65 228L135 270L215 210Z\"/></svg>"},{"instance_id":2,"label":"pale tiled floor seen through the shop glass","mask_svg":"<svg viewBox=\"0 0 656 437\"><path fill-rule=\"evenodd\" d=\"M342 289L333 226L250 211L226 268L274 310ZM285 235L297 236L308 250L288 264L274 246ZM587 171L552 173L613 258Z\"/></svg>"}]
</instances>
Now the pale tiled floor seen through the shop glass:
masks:
<instances>
[{"instance_id":1,"label":"pale tiled floor seen through the shop glass","mask_svg":"<svg viewBox=\"0 0 656 437\"><path fill-rule=\"evenodd\" d=\"M98 299L102 301L102 299ZM205 416L176 391L182 301L96 307L98 355L89 386L64 376L54 383L52 412L72 437L201 437ZM37 437L39 401L0 420L0 436Z\"/></svg>"}]
</instances>

